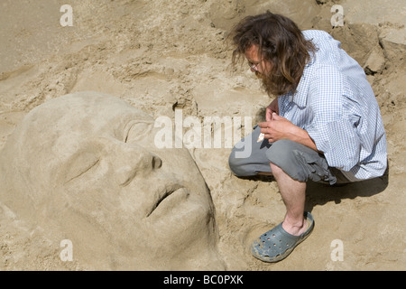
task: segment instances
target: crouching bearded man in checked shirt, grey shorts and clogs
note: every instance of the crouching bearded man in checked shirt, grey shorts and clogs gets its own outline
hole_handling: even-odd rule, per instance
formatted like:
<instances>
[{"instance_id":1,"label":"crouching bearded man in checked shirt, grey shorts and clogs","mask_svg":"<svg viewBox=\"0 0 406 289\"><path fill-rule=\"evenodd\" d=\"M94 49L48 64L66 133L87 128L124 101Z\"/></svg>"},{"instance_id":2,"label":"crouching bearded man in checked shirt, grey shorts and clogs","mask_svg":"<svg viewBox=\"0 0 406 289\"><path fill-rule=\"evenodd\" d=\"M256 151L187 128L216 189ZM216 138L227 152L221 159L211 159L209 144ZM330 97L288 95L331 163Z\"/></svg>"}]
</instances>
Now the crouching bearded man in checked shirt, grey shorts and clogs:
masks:
<instances>
[{"instance_id":1,"label":"crouching bearded man in checked shirt, grey shorts and clogs","mask_svg":"<svg viewBox=\"0 0 406 289\"><path fill-rule=\"evenodd\" d=\"M328 33L301 32L289 18L267 12L246 17L231 35L233 63L245 56L266 92L277 97L266 108L266 121L229 158L236 176L272 174L278 183L285 218L252 245L255 257L276 262L314 226L304 211L306 182L382 176L385 131L364 70ZM248 157L235 154L243 145L251 145Z\"/></svg>"}]
</instances>

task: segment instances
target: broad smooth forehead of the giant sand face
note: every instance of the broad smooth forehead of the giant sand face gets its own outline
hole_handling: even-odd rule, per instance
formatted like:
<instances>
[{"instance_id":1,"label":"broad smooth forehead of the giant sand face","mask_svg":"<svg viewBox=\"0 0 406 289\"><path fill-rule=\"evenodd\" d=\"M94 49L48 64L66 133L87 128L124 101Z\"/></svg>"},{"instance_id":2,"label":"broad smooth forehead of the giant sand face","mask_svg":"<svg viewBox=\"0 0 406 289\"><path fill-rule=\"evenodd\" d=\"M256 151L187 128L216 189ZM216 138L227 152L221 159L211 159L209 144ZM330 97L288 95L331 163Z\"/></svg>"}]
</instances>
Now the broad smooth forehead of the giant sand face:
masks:
<instances>
[{"instance_id":1,"label":"broad smooth forehead of the giant sand face","mask_svg":"<svg viewBox=\"0 0 406 289\"><path fill-rule=\"evenodd\" d=\"M108 136L122 140L131 121L152 123L152 117L124 100L97 92L78 92L54 98L35 107L15 131L14 147L45 152L67 147L88 137ZM67 145L68 144L68 145ZM60 150L58 152L60 154Z\"/></svg>"}]
</instances>

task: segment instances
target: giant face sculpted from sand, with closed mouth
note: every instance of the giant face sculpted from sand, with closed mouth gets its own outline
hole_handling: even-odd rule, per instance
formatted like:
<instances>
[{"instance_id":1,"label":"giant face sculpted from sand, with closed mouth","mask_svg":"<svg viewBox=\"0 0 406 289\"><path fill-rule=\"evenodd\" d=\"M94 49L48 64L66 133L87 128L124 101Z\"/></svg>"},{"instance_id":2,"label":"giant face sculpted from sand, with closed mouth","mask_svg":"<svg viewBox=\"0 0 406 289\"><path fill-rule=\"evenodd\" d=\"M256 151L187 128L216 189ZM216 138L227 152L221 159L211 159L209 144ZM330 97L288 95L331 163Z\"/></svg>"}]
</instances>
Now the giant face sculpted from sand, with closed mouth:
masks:
<instances>
[{"instance_id":1,"label":"giant face sculpted from sand, with closed mouth","mask_svg":"<svg viewBox=\"0 0 406 289\"><path fill-rule=\"evenodd\" d=\"M152 117L95 92L54 98L0 154L0 201L94 269L222 269L209 191Z\"/></svg>"}]
</instances>

